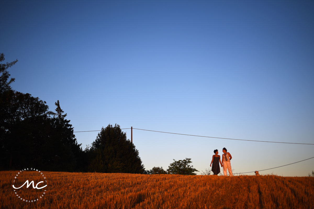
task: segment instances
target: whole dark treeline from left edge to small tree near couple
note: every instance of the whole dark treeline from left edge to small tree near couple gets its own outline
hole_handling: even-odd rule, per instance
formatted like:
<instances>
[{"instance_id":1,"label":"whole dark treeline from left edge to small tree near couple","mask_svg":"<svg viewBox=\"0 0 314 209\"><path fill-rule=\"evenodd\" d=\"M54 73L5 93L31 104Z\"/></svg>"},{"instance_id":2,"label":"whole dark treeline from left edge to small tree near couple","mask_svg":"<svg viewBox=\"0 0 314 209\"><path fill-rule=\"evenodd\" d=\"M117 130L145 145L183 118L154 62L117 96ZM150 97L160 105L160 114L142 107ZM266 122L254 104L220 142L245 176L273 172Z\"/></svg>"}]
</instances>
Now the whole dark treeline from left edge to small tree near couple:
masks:
<instances>
[{"instance_id":1,"label":"whole dark treeline from left edge to small tree near couple","mask_svg":"<svg viewBox=\"0 0 314 209\"><path fill-rule=\"evenodd\" d=\"M0 62L4 54L0 54ZM82 150L65 119L59 100L55 112L45 101L15 91L8 68L0 64L0 170L36 167L44 171L196 175L191 158L174 161L167 171L145 170L138 150L119 125L102 128L95 141Z\"/></svg>"}]
</instances>

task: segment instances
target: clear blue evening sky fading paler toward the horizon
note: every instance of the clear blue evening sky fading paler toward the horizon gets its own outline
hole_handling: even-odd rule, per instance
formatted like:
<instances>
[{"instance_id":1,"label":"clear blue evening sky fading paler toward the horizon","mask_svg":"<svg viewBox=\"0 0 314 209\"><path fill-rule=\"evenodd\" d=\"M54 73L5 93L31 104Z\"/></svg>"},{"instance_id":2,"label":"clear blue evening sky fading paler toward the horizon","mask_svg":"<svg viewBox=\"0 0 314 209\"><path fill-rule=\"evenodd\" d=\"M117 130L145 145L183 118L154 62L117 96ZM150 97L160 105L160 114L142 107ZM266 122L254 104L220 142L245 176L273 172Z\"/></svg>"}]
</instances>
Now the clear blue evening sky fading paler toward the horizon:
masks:
<instances>
[{"instance_id":1,"label":"clear blue evening sky fading paler toward the horizon","mask_svg":"<svg viewBox=\"0 0 314 209\"><path fill-rule=\"evenodd\" d=\"M314 143L314 3L2 3L0 52L12 87L59 100L74 131L108 124L246 140ZM126 130L130 139L130 130ZM83 149L98 132L76 133ZM314 145L133 130L146 169L226 147L248 172L304 160ZM307 176L314 159L262 174Z\"/></svg>"}]
</instances>

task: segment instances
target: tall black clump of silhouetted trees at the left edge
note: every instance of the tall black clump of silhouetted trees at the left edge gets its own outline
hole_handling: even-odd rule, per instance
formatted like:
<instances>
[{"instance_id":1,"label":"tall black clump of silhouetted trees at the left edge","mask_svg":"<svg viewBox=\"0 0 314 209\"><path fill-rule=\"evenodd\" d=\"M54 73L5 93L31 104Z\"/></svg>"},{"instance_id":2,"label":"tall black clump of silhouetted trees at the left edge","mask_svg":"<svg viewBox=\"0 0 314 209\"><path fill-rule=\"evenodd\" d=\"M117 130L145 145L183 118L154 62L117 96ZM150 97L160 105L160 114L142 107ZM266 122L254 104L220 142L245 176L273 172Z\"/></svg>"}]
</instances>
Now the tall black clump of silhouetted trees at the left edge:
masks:
<instances>
[{"instance_id":1,"label":"tall black clump of silhouetted trees at the left edge","mask_svg":"<svg viewBox=\"0 0 314 209\"><path fill-rule=\"evenodd\" d=\"M62 115L59 101L57 113L53 113L45 101L11 88L14 79L9 80L7 69L16 62L0 65L0 169L36 166L46 171L77 170L84 153L70 120Z\"/></svg>"}]
</instances>

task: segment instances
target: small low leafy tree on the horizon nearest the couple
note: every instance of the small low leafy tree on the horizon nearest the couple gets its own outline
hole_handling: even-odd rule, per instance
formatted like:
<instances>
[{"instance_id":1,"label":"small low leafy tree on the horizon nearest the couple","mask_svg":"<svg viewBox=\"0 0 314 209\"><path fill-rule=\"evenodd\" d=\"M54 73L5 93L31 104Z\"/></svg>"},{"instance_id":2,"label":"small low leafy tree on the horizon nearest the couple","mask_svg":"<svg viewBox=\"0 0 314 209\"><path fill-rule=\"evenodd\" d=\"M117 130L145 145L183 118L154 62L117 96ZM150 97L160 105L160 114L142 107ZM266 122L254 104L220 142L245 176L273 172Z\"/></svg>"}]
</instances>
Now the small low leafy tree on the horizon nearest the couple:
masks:
<instances>
[{"instance_id":1,"label":"small low leafy tree on the horizon nearest the couple","mask_svg":"<svg viewBox=\"0 0 314 209\"><path fill-rule=\"evenodd\" d=\"M189 164L192 163L191 158L186 158L185 160L176 161L173 159L174 162L170 164L169 168L167 169L169 174L181 174L181 175L196 175L196 170L193 166Z\"/></svg>"}]
</instances>

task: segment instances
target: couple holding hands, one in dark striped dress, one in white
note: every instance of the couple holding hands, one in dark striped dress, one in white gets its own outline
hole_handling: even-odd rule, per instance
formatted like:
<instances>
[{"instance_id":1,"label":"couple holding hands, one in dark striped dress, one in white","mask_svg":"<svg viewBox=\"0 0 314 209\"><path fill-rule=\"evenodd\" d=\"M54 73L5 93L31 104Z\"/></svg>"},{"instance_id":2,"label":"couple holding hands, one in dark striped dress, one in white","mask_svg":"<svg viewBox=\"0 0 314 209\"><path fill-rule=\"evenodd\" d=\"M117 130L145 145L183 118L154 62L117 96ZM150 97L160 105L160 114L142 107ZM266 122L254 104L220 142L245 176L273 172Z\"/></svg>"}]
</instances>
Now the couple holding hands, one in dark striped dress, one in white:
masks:
<instances>
[{"instance_id":1,"label":"couple holding hands, one in dark striped dress, one in white","mask_svg":"<svg viewBox=\"0 0 314 209\"><path fill-rule=\"evenodd\" d=\"M232 158L232 156L230 155L229 152L227 152L227 149L224 147L222 149L222 152L224 153L222 155L222 161L220 161L220 155L218 155L218 150L214 150L215 155L213 155L213 160L210 163L210 167L212 167L212 171L214 172L214 175L218 175L220 173L220 167L219 167L219 163L221 165L221 167L223 167L224 170L224 176L227 176L227 169L229 171L229 176L232 176L232 171L231 171L231 164L230 164L230 160Z\"/></svg>"}]
</instances>

